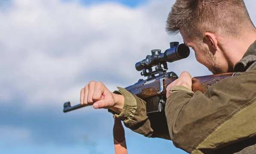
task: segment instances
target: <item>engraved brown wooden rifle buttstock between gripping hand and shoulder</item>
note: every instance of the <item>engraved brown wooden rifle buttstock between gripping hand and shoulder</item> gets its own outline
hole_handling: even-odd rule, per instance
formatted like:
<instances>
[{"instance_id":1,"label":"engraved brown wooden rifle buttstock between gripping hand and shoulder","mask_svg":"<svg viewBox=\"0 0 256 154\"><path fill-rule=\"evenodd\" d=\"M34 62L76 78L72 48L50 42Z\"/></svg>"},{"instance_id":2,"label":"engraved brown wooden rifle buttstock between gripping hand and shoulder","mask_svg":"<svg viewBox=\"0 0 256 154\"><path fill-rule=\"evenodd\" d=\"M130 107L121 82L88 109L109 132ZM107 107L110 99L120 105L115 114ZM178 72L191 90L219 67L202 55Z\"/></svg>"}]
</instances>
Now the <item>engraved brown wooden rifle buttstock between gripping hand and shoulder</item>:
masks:
<instances>
[{"instance_id":1,"label":"engraved brown wooden rifle buttstock between gripping hand and shoulder","mask_svg":"<svg viewBox=\"0 0 256 154\"><path fill-rule=\"evenodd\" d=\"M224 73L224 74L214 74L214 75L207 75L201 77L193 77L192 78L192 91L201 91L205 93L210 86L214 83L218 83L219 81L227 78L232 77L236 73Z\"/></svg>"}]
</instances>

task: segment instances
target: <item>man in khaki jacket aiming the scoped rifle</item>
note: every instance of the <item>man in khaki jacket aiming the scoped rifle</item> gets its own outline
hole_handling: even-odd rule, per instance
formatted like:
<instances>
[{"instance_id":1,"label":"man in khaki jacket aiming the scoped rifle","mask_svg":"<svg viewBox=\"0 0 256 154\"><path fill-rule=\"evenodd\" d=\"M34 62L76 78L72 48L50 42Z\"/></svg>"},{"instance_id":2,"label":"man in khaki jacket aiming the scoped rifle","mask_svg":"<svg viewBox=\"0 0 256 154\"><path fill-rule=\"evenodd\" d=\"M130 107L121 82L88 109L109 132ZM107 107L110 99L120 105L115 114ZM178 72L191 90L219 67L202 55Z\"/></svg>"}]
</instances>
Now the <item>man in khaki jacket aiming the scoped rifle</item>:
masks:
<instances>
[{"instance_id":1,"label":"man in khaki jacket aiming the scoped rifle","mask_svg":"<svg viewBox=\"0 0 256 154\"><path fill-rule=\"evenodd\" d=\"M100 82L81 90L81 104L108 108L131 130L172 140L191 154L256 154L256 28L244 1L177 0L166 31L180 32L212 73L241 73L202 94L191 91L192 77L183 72L166 88L162 123L146 115L145 101L124 88L111 93Z\"/></svg>"}]
</instances>

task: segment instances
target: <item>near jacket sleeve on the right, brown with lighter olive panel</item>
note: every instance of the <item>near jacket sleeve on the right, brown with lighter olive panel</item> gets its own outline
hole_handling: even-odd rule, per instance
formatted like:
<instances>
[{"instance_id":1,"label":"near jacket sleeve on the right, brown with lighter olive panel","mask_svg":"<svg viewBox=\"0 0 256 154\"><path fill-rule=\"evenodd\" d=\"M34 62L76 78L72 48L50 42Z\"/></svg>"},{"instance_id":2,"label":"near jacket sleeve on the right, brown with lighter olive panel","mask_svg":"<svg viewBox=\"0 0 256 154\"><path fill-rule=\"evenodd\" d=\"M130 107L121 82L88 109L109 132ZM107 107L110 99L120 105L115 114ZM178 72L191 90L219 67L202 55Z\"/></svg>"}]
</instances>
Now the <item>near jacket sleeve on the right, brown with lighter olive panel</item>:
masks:
<instances>
[{"instance_id":1,"label":"near jacket sleeve on the right, brown with lighter olive panel","mask_svg":"<svg viewBox=\"0 0 256 154\"><path fill-rule=\"evenodd\" d=\"M255 137L256 114L251 112L256 102L255 79L256 71L239 73L215 83L204 94L180 90L180 86L169 89L165 112L174 145L203 154Z\"/></svg>"}]
</instances>

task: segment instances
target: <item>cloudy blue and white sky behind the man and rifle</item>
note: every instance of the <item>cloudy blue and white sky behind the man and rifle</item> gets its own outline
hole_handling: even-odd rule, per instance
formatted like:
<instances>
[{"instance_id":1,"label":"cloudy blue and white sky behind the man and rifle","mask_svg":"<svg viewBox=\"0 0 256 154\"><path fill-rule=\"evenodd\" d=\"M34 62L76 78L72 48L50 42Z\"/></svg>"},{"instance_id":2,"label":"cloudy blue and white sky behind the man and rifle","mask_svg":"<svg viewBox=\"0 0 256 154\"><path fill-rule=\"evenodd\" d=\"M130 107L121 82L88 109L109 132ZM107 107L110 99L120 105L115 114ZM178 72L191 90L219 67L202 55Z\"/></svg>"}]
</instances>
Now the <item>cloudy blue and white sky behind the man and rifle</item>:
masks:
<instances>
[{"instance_id":1,"label":"cloudy blue and white sky behind the man and rifle","mask_svg":"<svg viewBox=\"0 0 256 154\"><path fill-rule=\"evenodd\" d=\"M143 78L135 63L165 51L175 0L0 0L0 154L113 154L113 117L105 109L64 114L91 80L111 91ZM245 0L256 24L254 0ZM169 71L211 74L194 52ZM186 154L172 141L125 128L129 154Z\"/></svg>"}]
</instances>

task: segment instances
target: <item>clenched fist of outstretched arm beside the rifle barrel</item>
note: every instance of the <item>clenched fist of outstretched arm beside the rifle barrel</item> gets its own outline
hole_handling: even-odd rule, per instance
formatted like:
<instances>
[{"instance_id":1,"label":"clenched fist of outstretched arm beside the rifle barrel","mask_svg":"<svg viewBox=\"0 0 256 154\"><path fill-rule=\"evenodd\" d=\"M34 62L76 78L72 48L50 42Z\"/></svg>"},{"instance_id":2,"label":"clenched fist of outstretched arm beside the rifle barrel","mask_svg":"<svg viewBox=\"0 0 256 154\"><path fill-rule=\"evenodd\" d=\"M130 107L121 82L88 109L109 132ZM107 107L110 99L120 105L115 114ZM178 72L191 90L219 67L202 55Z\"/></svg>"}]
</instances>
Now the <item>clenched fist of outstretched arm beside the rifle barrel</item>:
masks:
<instances>
[{"instance_id":1,"label":"clenched fist of outstretched arm beside the rifle barrel","mask_svg":"<svg viewBox=\"0 0 256 154\"><path fill-rule=\"evenodd\" d=\"M120 114L124 106L124 97L114 94L101 82L90 81L81 89L81 105L93 105L93 108L110 108Z\"/></svg>"}]
</instances>

